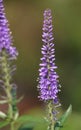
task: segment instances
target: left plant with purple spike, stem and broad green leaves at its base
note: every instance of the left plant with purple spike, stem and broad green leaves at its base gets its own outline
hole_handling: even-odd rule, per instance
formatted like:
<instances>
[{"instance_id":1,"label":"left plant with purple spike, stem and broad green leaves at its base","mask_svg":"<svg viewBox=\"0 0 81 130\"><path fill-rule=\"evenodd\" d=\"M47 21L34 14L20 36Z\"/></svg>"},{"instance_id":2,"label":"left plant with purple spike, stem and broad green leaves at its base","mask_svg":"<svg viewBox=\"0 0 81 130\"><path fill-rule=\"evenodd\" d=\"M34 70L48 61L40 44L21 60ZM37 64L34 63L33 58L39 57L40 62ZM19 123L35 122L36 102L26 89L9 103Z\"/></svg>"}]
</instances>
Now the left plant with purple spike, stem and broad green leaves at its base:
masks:
<instances>
[{"instance_id":1,"label":"left plant with purple spike, stem and broad green leaves at its base","mask_svg":"<svg viewBox=\"0 0 81 130\"><path fill-rule=\"evenodd\" d=\"M17 86L12 78L16 69L13 63L17 56L18 51L13 46L3 0L0 0L0 87L4 91L4 95L0 92L0 105L7 104L6 111L0 111L0 129L8 125L8 130L33 130L33 123L28 124L27 122L34 122L35 117L19 116L17 107L17 103L23 98L17 99ZM26 125L24 126L24 124Z\"/></svg>"}]
</instances>

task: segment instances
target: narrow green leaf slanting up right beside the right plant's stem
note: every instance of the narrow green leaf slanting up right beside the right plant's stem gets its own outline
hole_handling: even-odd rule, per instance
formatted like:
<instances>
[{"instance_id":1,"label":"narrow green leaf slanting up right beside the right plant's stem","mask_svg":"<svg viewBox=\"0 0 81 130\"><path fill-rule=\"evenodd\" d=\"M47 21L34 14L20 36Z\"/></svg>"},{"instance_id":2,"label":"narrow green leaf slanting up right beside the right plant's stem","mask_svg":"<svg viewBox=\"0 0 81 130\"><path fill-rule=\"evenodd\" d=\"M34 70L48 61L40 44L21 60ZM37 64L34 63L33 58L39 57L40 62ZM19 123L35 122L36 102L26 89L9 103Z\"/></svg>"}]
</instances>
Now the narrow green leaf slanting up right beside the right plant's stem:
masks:
<instances>
[{"instance_id":1,"label":"narrow green leaf slanting up right beside the right plant's stem","mask_svg":"<svg viewBox=\"0 0 81 130\"><path fill-rule=\"evenodd\" d=\"M68 116L72 112L72 105L66 110L66 112L60 117L60 119L55 123L54 130L59 130L63 127L64 122L67 120Z\"/></svg>"}]
</instances>

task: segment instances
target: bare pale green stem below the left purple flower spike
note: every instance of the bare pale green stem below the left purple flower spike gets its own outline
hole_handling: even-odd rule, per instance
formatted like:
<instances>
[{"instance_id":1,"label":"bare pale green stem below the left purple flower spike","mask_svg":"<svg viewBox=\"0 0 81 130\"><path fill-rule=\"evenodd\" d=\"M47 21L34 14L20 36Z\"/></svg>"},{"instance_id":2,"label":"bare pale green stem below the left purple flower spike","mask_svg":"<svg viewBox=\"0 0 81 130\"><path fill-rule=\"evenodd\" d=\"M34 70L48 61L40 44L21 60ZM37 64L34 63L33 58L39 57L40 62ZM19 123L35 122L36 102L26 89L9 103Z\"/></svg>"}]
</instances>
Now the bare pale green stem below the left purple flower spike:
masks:
<instances>
[{"instance_id":1,"label":"bare pale green stem below the left purple flower spike","mask_svg":"<svg viewBox=\"0 0 81 130\"><path fill-rule=\"evenodd\" d=\"M10 120L10 130L14 130L15 113L18 111L17 111L16 103L14 104L16 110L14 110L13 107L14 97L12 93L13 86L11 84L10 64L5 50L2 51L1 66L2 66L2 74L3 74L2 80L4 82L4 87L5 87L4 91L6 93L7 100L8 100L8 119Z\"/></svg>"}]
</instances>

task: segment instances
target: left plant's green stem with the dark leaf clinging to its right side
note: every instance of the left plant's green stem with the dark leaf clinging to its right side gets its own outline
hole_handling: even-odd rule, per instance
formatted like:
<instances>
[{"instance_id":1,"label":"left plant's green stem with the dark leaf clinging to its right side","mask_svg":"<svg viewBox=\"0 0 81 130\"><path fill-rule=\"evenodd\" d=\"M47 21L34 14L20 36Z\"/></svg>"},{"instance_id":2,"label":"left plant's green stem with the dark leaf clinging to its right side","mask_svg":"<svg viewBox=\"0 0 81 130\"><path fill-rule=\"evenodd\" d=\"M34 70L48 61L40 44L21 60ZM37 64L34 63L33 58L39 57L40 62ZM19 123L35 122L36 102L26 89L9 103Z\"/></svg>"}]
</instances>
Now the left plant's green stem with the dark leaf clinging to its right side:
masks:
<instances>
[{"instance_id":1,"label":"left plant's green stem with the dark leaf clinging to its right side","mask_svg":"<svg viewBox=\"0 0 81 130\"><path fill-rule=\"evenodd\" d=\"M6 54L6 51L2 51L1 56L1 72L2 72L2 81L3 81L3 88L6 94L6 100L8 103L8 113L7 118L10 120L11 123L11 130L14 130L14 120L15 116L18 115L18 109L17 109L17 99L16 99L16 85L12 84L12 67L9 63L8 54Z\"/></svg>"}]
</instances>

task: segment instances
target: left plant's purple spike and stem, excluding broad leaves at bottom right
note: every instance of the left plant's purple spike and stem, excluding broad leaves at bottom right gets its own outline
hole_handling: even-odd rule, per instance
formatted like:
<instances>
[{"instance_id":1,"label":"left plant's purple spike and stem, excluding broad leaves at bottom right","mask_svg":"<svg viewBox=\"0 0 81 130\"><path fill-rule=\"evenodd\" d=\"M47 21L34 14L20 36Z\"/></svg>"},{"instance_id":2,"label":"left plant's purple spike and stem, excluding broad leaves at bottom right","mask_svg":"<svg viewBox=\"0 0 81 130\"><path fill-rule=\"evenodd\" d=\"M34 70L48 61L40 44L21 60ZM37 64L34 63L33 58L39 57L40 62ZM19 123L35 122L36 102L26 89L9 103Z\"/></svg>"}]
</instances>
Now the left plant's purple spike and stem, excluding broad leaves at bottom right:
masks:
<instances>
[{"instance_id":1,"label":"left plant's purple spike and stem, excluding broad leaves at bottom right","mask_svg":"<svg viewBox=\"0 0 81 130\"><path fill-rule=\"evenodd\" d=\"M0 104L8 104L7 113L0 111L0 118L11 121L11 130L14 129L13 122L18 117L16 106L17 87L12 81L12 75L16 69L13 61L17 59L17 56L18 52L16 47L13 46L13 38L5 16L3 0L0 0L0 87L2 87L5 93L5 96L1 96Z\"/></svg>"}]
</instances>

